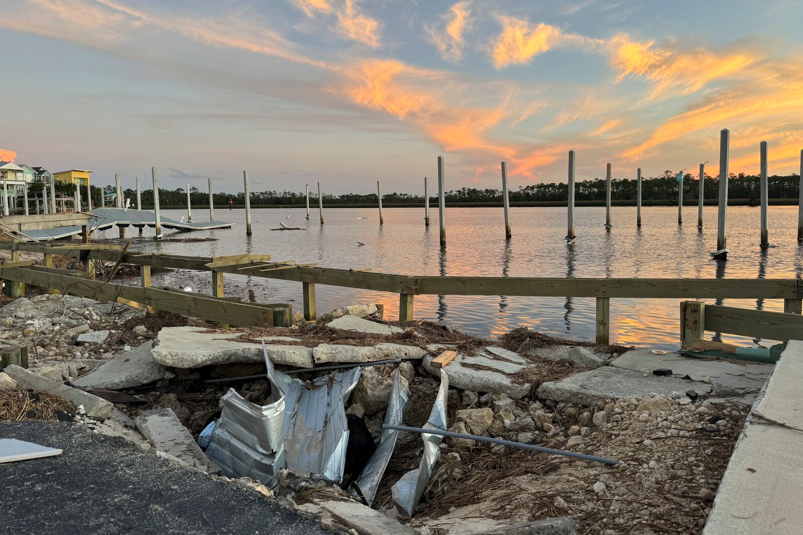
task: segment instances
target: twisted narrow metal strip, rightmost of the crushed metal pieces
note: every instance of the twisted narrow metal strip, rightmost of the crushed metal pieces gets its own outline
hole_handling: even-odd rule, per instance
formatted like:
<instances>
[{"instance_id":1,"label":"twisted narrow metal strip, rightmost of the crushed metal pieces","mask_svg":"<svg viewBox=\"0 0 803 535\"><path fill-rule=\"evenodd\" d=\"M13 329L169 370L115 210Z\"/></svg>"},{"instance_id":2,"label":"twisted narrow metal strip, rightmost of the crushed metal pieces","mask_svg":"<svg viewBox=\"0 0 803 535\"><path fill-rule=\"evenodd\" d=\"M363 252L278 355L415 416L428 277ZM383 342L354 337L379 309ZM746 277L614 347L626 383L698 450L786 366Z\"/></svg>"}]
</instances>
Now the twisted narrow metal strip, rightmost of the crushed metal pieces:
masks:
<instances>
[{"instance_id":1,"label":"twisted narrow metal strip, rightmost of the crushed metal pieces","mask_svg":"<svg viewBox=\"0 0 803 535\"><path fill-rule=\"evenodd\" d=\"M446 375L444 368L441 371L441 386L438 388L438 397L435 398L435 403L430 412L430 418L424 424L425 429L439 429L446 431L446 403L448 402L449 394L449 375ZM407 517L413 516L415 506L421 500L426 485L430 482L430 477L435 468L435 463L438 462L441 450L440 444L443 437L440 435L422 434L424 441L424 452L421 458L421 464L415 470L407 472L396 484L393 485L391 492L393 494L393 503L400 513L405 514Z\"/></svg>"}]
</instances>

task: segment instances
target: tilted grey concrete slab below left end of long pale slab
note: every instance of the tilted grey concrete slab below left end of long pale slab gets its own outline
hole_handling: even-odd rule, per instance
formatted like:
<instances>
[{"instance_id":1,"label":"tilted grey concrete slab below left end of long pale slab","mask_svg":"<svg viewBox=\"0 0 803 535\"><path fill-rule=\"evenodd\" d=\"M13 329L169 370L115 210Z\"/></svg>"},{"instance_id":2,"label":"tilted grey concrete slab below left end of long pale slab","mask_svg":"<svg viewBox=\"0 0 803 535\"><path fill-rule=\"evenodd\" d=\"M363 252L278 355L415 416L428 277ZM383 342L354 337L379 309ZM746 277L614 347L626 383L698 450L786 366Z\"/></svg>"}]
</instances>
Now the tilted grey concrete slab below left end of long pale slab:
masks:
<instances>
[{"instance_id":1,"label":"tilted grey concrete slab below left end of long pale slab","mask_svg":"<svg viewBox=\"0 0 803 535\"><path fill-rule=\"evenodd\" d=\"M72 383L84 388L138 387L159 379L170 379L173 373L153 361L153 340L108 361L95 371L82 375Z\"/></svg>"}]
</instances>

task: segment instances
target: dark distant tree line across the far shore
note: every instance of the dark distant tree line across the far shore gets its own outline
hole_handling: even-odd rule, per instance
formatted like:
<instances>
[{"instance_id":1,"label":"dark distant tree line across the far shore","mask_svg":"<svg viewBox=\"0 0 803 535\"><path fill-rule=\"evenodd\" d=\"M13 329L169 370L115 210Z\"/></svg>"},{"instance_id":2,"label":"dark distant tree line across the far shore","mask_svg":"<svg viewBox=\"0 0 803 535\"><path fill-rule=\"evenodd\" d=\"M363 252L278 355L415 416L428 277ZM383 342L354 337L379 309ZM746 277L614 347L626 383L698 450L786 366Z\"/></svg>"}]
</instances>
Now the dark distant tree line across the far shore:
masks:
<instances>
[{"instance_id":1,"label":"dark distant tree line across the far shore","mask_svg":"<svg viewBox=\"0 0 803 535\"><path fill-rule=\"evenodd\" d=\"M644 201L674 201L678 198L678 182L675 172L664 171L661 176L642 179L642 199ZM797 199L799 196L800 178L796 174L790 176L769 176L768 194L771 199ZM73 188L74 189L74 188ZM97 191L96 191L97 190ZM108 185L104 188L104 193L114 193L115 188ZM683 176L683 197L684 199L697 199L699 191L699 180L691 173ZM715 200L719 192L719 178L705 176L704 198ZM509 193L511 202L548 202L565 201L568 193L568 185L565 183L549 184L530 184L511 190ZM125 189L124 197L130 198L131 206L136 207L136 191ZM184 188L163 189L159 188L159 202L161 206L184 207L186 205L186 191ZM97 198L96 198L97 197ZM209 194L202 192L198 188L190 188L190 197L193 205L208 205ZM728 181L728 197L732 199L748 199L758 201L759 176L731 174ZM153 206L153 190L145 189L141 192L142 205ZM632 201L636 198L635 179L613 179L611 180L611 198L613 201ZM575 183L575 199L577 201L605 201L605 179L595 178L591 180L581 180ZM437 196L430 197L430 203L436 205ZM471 203L500 203L502 192L494 188L460 188L446 192L446 202L455 204ZM310 207L316 208L317 195L310 193ZM411 195L410 193L385 193L382 196L385 205L422 205L424 197L422 195ZM304 205L304 193L291 191L279 192L276 190L251 192L251 206L302 206ZM92 187L92 204L100 205L100 188ZM214 204L216 206L243 206L245 197L243 193L214 193ZM376 205L376 193L344 193L342 195L332 195L324 193L324 205Z\"/></svg>"}]
</instances>

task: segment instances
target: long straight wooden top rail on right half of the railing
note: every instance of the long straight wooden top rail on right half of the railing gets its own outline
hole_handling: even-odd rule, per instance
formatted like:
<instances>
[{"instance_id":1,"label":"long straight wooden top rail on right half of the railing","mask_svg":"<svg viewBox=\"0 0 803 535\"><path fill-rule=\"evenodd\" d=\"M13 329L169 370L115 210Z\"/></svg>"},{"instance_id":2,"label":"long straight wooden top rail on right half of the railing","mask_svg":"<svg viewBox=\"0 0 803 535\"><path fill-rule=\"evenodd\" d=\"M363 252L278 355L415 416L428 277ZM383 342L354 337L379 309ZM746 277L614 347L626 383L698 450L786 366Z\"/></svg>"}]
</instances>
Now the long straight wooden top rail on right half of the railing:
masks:
<instances>
[{"instance_id":1,"label":"long straight wooden top rail on right half of the railing","mask_svg":"<svg viewBox=\"0 0 803 535\"><path fill-rule=\"evenodd\" d=\"M745 278L418 277L416 294L570 298L799 298L797 281Z\"/></svg>"}]
</instances>

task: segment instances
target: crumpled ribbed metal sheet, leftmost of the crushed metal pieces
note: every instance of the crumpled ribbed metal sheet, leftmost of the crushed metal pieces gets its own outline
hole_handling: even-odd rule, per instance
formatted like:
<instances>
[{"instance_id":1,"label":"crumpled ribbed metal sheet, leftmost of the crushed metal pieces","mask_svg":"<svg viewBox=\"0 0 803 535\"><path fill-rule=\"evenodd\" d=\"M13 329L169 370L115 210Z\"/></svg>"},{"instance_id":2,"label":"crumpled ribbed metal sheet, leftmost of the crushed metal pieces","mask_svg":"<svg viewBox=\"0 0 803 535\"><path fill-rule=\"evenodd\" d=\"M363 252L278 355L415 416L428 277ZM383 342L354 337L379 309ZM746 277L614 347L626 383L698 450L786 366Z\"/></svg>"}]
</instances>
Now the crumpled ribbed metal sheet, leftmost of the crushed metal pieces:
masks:
<instances>
[{"instance_id":1,"label":"crumpled ribbed metal sheet, leftmost of the crushed metal pieces","mask_svg":"<svg viewBox=\"0 0 803 535\"><path fill-rule=\"evenodd\" d=\"M274 392L279 390L274 385ZM284 397L261 406L230 388L220 399L222 412L206 456L226 476L248 476L273 486L284 468L284 407Z\"/></svg>"}]
</instances>

